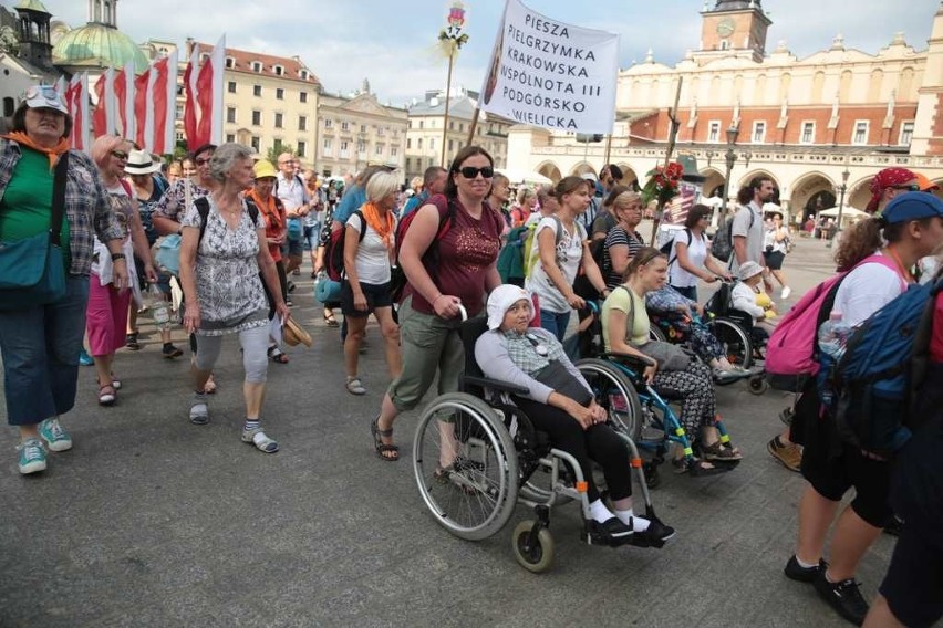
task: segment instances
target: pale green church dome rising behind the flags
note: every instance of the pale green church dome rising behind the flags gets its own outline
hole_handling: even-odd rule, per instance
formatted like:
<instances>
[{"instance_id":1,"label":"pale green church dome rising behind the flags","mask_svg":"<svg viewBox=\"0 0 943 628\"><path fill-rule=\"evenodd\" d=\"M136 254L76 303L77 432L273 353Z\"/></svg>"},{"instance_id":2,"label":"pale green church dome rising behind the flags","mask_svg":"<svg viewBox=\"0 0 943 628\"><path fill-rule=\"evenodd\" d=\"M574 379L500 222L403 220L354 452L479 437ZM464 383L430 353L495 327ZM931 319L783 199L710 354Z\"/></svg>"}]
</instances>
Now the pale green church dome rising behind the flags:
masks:
<instances>
[{"instance_id":1,"label":"pale green church dome rising behind the flags","mask_svg":"<svg viewBox=\"0 0 943 628\"><path fill-rule=\"evenodd\" d=\"M55 65L121 69L128 61L134 62L136 73L147 70L147 57L129 36L99 23L69 31L52 49Z\"/></svg>"}]
</instances>

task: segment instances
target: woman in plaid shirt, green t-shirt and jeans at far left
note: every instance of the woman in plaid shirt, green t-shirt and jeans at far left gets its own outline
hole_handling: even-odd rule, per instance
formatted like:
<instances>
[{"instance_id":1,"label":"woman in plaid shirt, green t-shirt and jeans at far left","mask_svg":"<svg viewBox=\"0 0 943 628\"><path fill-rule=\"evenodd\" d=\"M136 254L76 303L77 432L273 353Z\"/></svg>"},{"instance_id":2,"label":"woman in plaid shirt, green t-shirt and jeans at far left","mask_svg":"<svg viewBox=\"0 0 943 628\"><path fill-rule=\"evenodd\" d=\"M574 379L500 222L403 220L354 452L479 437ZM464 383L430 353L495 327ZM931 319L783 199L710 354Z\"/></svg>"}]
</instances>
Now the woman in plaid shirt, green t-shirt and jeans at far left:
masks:
<instances>
[{"instance_id":1,"label":"woman in plaid shirt, green t-shirt and jeans at far left","mask_svg":"<svg viewBox=\"0 0 943 628\"><path fill-rule=\"evenodd\" d=\"M17 291L0 292L0 353L7 421L20 431L20 473L46 468L45 447L65 451L72 439L59 418L75 404L79 353L85 329L89 271L95 237L112 260L112 284L128 287L124 230L89 157L71 150L65 103L51 86L27 90L13 113L12 132L0 139L0 242L48 233L54 217L54 172L65 168L64 216L54 234L65 263L65 295L30 303ZM0 257L3 253L0 252Z\"/></svg>"}]
</instances>

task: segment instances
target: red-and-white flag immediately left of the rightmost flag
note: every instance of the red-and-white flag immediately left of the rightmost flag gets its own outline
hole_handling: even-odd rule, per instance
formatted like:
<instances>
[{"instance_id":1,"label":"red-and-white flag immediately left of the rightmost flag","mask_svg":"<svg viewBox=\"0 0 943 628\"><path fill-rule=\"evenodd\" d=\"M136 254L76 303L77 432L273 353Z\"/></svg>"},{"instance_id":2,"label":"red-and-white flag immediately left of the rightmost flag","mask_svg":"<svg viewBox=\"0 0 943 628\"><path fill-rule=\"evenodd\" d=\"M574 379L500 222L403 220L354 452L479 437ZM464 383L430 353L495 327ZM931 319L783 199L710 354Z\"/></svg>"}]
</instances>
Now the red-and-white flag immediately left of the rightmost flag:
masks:
<instances>
[{"instance_id":1,"label":"red-and-white flag immediately left of the rightmost flag","mask_svg":"<svg viewBox=\"0 0 943 628\"><path fill-rule=\"evenodd\" d=\"M177 52L154 62L134 83L134 114L137 121L135 142L149 153L173 153Z\"/></svg>"}]
</instances>

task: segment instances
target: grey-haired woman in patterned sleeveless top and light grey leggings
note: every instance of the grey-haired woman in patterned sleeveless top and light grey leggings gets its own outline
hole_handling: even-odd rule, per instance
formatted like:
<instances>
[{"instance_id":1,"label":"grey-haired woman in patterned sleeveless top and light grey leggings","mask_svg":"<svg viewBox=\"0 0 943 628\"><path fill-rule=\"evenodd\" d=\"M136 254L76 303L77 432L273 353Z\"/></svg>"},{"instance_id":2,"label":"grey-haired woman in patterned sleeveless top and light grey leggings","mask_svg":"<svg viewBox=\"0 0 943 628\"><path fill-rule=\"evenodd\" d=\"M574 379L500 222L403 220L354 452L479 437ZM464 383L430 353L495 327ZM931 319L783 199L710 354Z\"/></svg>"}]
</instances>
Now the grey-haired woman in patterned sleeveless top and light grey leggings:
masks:
<instances>
[{"instance_id":1,"label":"grey-haired woman in patterned sleeveless top and light grey leggings","mask_svg":"<svg viewBox=\"0 0 943 628\"><path fill-rule=\"evenodd\" d=\"M214 191L187 210L180 245L180 280L186 297L184 326L199 336L189 417L195 425L209 422L206 381L219 357L222 336L237 334L246 368L242 441L273 453L278 443L262 431L259 417L266 391L269 337L260 271L274 297L278 316L287 320L291 313L269 254L265 219L258 210L250 211L241 196L252 185L252 150L239 144L224 144L213 155L209 175L215 181ZM201 212L200 207L206 211Z\"/></svg>"}]
</instances>

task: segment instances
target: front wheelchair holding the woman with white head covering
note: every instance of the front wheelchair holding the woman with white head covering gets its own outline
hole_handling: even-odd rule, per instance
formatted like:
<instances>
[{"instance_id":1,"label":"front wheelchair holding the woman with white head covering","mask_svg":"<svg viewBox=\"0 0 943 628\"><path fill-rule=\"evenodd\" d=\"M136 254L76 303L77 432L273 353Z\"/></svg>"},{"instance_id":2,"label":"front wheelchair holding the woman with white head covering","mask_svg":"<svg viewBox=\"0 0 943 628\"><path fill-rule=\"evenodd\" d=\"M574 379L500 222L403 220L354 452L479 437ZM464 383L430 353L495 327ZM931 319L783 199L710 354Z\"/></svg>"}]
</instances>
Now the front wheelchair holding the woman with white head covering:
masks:
<instances>
[{"instance_id":1,"label":"front wheelchair holding the woman with white head covering","mask_svg":"<svg viewBox=\"0 0 943 628\"><path fill-rule=\"evenodd\" d=\"M413 471L423 502L439 525L467 541L497 534L518 503L532 509L535 519L515 526L511 546L517 562L533 573L549 569L553 562L551 509L570 501L580 505L581 541L615 546L589 526L588 483L577 460L552 448L547 435L535 430L527 416L509 402L510 395L527 390L483 376L475 362L475 342L486 331L484 317L462 324L466 370L460 391L434 399L416 426ZM623 388L622 393L631 396L632 390ZM622 419L610 416L610 422L629 446L632 475L645 504L644 516L657 521L639 450L620 427L624 425ZM454 461L444 470L445 460ZM597 485L604 496L603 484ZM619 544L661 547L664 543L640 538Z\"/></svg>"}]
</instances>

